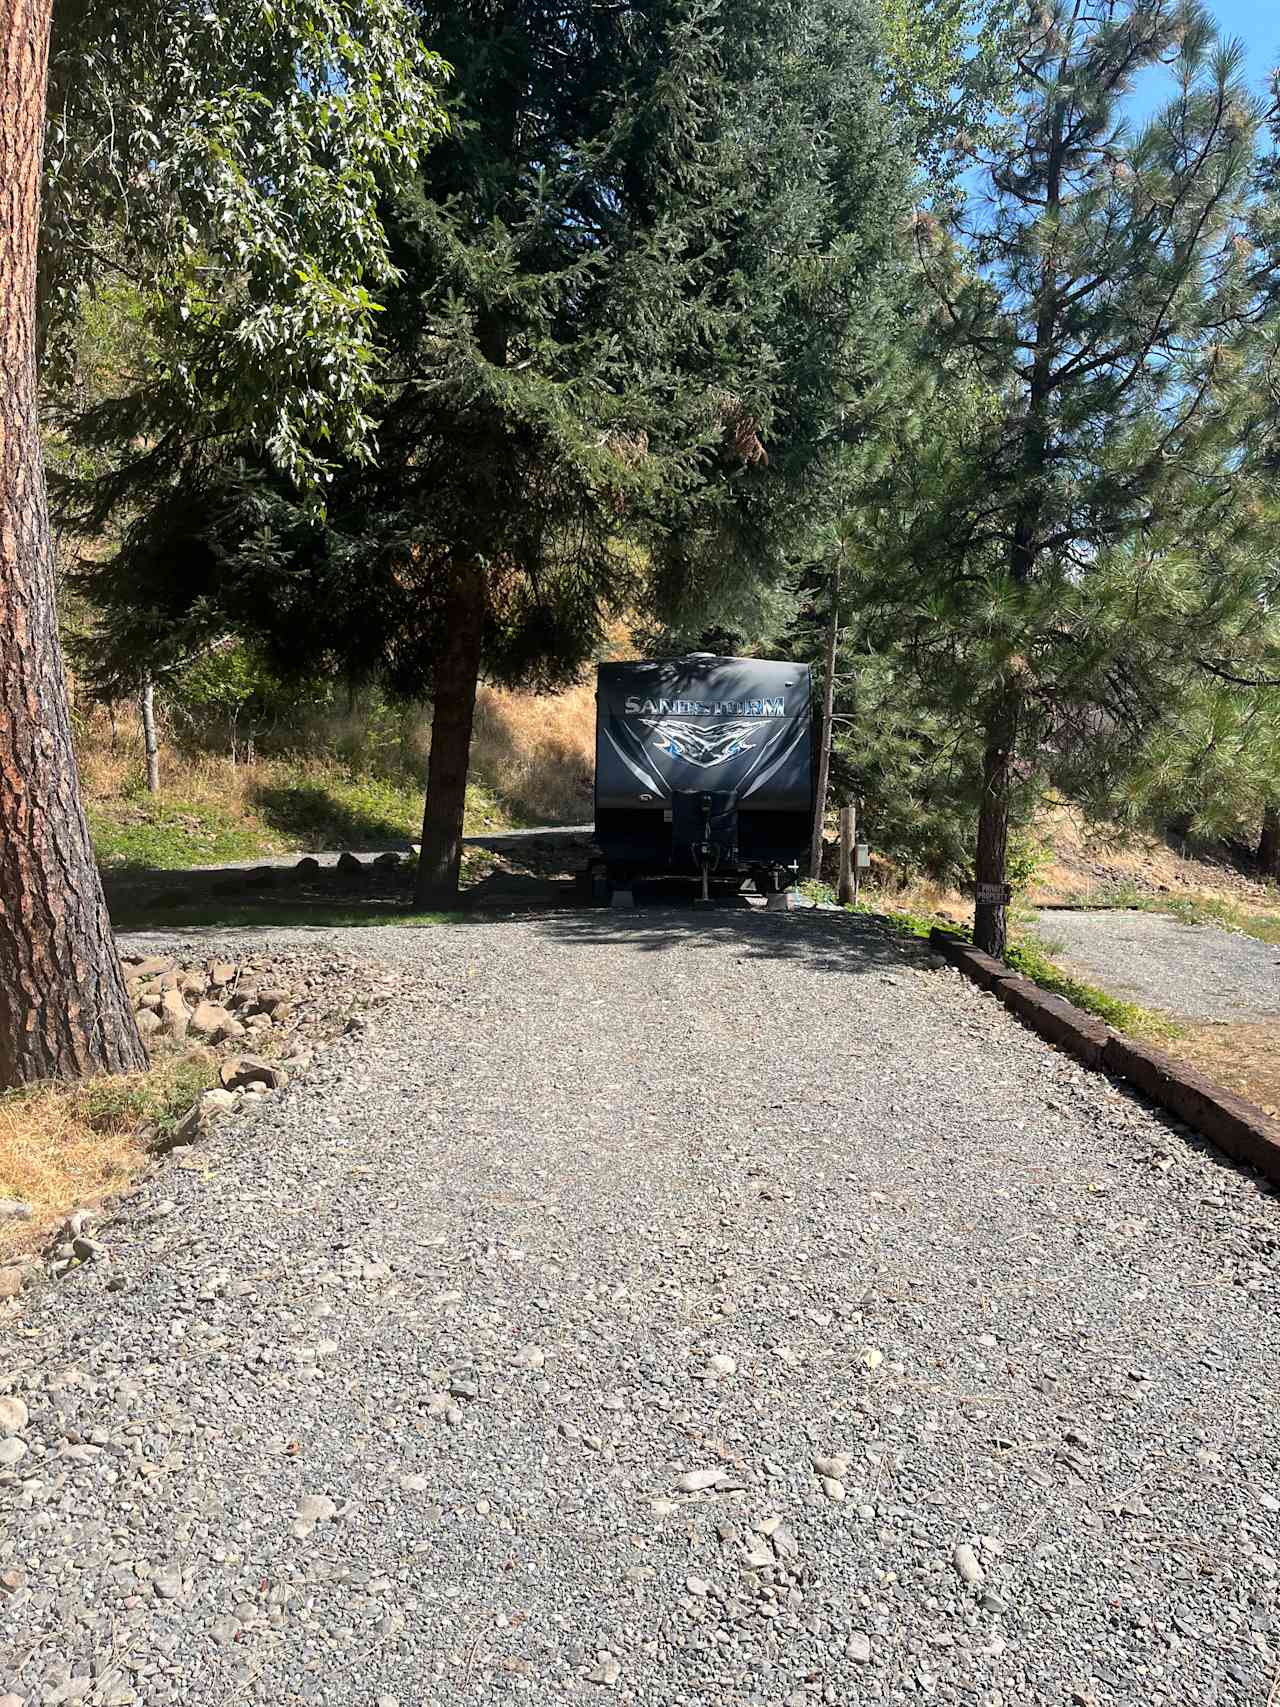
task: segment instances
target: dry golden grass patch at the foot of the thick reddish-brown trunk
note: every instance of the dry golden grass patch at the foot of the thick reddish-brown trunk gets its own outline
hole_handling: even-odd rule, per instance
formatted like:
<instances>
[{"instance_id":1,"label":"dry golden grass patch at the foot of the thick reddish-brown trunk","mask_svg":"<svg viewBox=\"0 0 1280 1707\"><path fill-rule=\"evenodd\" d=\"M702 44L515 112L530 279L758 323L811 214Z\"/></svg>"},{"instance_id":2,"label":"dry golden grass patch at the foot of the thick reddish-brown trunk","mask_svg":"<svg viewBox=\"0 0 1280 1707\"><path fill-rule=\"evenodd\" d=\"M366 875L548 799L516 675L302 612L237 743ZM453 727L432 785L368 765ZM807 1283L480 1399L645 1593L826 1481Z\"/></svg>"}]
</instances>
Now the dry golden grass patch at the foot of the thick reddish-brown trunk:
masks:
<instances>
[{"instance_id":1,"label":"dry golden grass patch at the foot of the thick reddish-brown trunk","mask_svg":"<svg viewBox=\"0 0 1280 1707\"><path fill-rule=\"evenodd\" d=\"M0 1094L0 1197L31 1209L31 1221L0 1221L0 1258L44 1244L72 1209L121 1191L215 1079L213 1057L191 1050L145 1074Z\"/></svg>"}]
</instances>

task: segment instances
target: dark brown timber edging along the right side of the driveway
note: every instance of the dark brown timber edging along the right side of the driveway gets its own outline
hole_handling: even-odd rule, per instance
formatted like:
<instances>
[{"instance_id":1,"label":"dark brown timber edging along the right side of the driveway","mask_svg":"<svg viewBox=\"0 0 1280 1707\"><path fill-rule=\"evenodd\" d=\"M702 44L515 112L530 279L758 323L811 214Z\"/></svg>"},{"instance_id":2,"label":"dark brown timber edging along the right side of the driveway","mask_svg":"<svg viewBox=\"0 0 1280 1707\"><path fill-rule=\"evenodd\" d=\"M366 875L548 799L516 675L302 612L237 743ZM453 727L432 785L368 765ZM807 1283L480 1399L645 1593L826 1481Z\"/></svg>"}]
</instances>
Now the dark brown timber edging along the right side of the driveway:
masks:
<instances>
[{"instance_id":1,"label":"dark brown timber edging along the right side of the driveway","mask_svg":"<svg viewBox=\"0 0 1280 1707\"><path fill-rule=\"evenodd\" d=\"M1184 1067L1164 1050L1121 1038L1101 1019L1082 1012L1060 995L1050 995L1031 978L1024 978L1004 961L983 954L949 930L932 930L930 942L966 978L997 995L1022 1024L1067 1050L1085 1067L1109 1072L1137 1086L1152 1103L1186 1121L1227 1156L1248 1162L1273 1185L1280 1185L1280 1120L1271 1120L1244 1098L1210 1084L1193 1067Z\"/></svg>"}]
</instances>

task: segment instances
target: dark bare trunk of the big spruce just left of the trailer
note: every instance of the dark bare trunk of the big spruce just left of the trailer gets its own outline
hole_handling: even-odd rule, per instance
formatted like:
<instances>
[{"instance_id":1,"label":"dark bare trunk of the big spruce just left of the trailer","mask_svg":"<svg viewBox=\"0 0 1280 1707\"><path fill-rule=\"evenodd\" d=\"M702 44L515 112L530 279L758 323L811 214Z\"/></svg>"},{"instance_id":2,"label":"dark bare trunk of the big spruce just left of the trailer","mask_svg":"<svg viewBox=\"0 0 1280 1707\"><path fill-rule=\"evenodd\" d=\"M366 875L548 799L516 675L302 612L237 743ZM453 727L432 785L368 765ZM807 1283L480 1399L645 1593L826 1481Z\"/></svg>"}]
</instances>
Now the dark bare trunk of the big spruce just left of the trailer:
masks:
<instances>
[{"instance_id":1,"label":"dark bare trunk of the big spruce just left of the trailer","mask_svg":"<svg viewBox=\"0 0 1280 1707\"><path fill-rule=\"evenodd\" d=\"M459 565L449 592L445 647L435 666L432 756L415 891L418 906L452 906L457 901L485 608L485 570L478 563Z\"/></svg>"}]
</instances>

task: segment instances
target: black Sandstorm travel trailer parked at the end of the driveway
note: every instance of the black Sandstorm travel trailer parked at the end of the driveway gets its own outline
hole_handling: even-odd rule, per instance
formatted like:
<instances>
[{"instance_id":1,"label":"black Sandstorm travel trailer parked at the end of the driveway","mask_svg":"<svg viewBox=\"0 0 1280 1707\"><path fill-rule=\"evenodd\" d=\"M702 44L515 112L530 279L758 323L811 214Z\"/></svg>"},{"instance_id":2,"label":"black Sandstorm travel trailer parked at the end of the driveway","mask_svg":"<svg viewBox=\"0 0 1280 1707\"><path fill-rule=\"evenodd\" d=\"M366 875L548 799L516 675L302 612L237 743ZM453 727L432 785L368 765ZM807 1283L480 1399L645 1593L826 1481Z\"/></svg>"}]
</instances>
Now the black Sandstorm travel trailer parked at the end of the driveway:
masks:
<instances>
[{"instance_id":1,"label":"black Sandstorm travel trailer parked at the end of the driveway","mask_svg":"<svg viewBox=\"0 0 1280 1707\"><path fill-rule=\"evenodd\" d=\"M753 879L777 894L807 857L814 806L807 664L688 657L601 664L596 693L599 884Z\"/></svg>"}]
</instances>

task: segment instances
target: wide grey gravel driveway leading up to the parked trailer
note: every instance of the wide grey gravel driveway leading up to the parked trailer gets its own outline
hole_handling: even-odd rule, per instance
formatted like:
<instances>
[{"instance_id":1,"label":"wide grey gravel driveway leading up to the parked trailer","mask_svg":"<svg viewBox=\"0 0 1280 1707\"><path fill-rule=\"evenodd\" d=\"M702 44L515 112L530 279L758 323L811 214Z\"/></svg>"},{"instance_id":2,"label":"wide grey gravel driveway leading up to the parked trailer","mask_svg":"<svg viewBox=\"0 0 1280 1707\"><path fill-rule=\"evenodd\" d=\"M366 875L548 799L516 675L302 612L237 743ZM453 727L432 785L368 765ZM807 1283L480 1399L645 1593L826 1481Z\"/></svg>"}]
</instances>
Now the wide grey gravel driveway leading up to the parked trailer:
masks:
<instances>
[{"instance_id":1,"label":"wide grey gravel driveway leading up to the parked trailer","mask_svg":"<svg viewBox=\"0 0 1280 1707\"><path fill-rule=\"evenodd\" d=\"M0 1692L1263 1707L1251 1176L843 917L280 937L422 995L29 1304Z\"/></svg>"}]
</instances>

